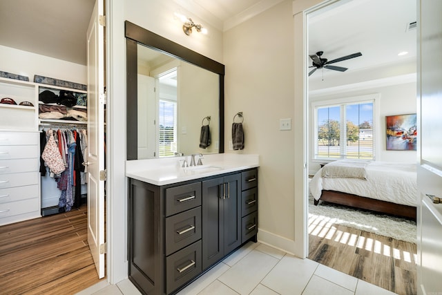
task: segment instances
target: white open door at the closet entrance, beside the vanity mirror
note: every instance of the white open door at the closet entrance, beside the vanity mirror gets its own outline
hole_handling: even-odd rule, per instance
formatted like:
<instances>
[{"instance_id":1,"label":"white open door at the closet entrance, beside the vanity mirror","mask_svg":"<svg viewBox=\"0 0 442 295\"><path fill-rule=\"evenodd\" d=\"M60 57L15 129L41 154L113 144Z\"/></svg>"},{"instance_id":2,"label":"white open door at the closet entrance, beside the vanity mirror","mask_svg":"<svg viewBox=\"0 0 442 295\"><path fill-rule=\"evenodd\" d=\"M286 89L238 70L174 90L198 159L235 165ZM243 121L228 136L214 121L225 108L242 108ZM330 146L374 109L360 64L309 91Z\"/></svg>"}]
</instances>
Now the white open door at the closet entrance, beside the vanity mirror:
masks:
<instances>
[{"instance_id":1,"label":"white open door at the closet entrance, beside the vanity mirror","mask_svg":"<svg viewBox=\"0 0 442 295\"><path fill-rule=\"evenodd\" d=\"M104 28L103 2L95 2L87 33L88 50L88 244L99 278L104 277Z\"/></svg>"}]
</instances>

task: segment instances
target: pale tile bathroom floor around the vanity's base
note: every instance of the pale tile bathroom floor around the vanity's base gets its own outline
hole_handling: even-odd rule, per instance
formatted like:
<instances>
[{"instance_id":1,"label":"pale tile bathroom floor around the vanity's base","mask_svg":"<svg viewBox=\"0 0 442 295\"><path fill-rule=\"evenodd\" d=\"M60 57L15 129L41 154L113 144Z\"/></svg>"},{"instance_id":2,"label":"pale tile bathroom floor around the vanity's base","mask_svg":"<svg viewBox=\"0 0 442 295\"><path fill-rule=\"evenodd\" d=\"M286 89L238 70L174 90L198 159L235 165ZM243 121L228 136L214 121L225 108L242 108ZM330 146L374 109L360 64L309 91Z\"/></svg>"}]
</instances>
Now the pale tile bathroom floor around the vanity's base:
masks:
<instances>
[{"instance_id":1,"label":"pale tile bathroom floor around the vanity's base","mask_svg":"<svg viewBox=\"0 0 442 295\"><path fill-rule=\"evenodd\" d=\"M116 285L100 282L78 295L140 294L129 280ZM261 243L249 242L179 295L336 294L387 295L390 291L366 283L309 259L300 259Z\"/></svg>"}]
</instances>

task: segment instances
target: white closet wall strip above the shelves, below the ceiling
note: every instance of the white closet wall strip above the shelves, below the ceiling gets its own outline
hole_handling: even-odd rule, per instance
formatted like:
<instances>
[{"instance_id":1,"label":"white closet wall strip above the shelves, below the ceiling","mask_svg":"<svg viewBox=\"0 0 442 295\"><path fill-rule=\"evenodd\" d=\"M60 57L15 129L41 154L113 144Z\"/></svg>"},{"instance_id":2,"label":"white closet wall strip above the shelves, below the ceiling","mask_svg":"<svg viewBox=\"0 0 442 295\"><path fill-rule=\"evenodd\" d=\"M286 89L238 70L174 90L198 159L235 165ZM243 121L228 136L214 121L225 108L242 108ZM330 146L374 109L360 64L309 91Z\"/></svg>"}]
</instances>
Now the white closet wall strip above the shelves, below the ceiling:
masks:
<instances>
[{"instance_id":1,"label":"white closet wall strip above the shelves, below the ceiling","mask_svg":"<svg viewBox=\"0 0 442 295\"><path fill-rule=\"evenodd\" d=\"M81 64L74 64L70 61L37 55L28 51L1 45L0 56L1 71L27 76L30 82L34 82L34 75L40 75L79 84L87 84L87 68Z\"/></svg>"}]
</instances>

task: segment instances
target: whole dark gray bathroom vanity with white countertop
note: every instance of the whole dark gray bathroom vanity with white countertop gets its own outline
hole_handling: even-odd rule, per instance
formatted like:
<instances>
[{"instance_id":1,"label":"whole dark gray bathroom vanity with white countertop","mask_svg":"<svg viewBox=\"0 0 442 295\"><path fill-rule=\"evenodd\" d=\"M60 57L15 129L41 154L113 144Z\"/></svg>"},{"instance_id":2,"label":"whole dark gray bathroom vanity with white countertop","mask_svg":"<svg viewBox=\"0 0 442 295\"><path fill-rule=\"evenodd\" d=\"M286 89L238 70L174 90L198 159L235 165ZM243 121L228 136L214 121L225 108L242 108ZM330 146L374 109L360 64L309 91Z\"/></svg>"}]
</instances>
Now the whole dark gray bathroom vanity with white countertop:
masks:
<instances>
[{"instance_id":1,"label":"whole dark gray bathroom vanity with white countertop","mask_svg":"<svg viewBox=\"0 0 442 295\"><path fill-rule=\"evenodd\" d=\"M128 276L144 294L173 294L258 233L258 156L136 160L128 176ZM148 168L147 168L148 167Z\"/></svg>"}]
</instances>

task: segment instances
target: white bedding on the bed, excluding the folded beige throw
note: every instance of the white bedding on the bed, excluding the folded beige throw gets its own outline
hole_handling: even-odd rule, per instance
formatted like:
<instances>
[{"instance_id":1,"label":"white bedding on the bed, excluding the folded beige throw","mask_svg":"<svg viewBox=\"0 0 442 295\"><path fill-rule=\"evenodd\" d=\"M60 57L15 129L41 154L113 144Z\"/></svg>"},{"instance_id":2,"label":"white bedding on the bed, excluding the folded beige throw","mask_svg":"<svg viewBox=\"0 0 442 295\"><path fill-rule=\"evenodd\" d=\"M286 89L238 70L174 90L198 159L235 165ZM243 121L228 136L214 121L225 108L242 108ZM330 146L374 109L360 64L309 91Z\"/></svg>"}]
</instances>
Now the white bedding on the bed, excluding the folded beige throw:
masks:
<instances>
[{"instance_id":1,"label":"white bedding on the bed, excluding the folded beige throw","mask_svg":"<svg viewBox=\"0 0 442 295\"><path fill-rule=\"evenodd\" d=\"M311 179L310 193L319 200L323 189L356 196L416 206L416 164L370 162L367 180L358 178L323 178L320 169Z\"/></svg>"}]
</instances>

